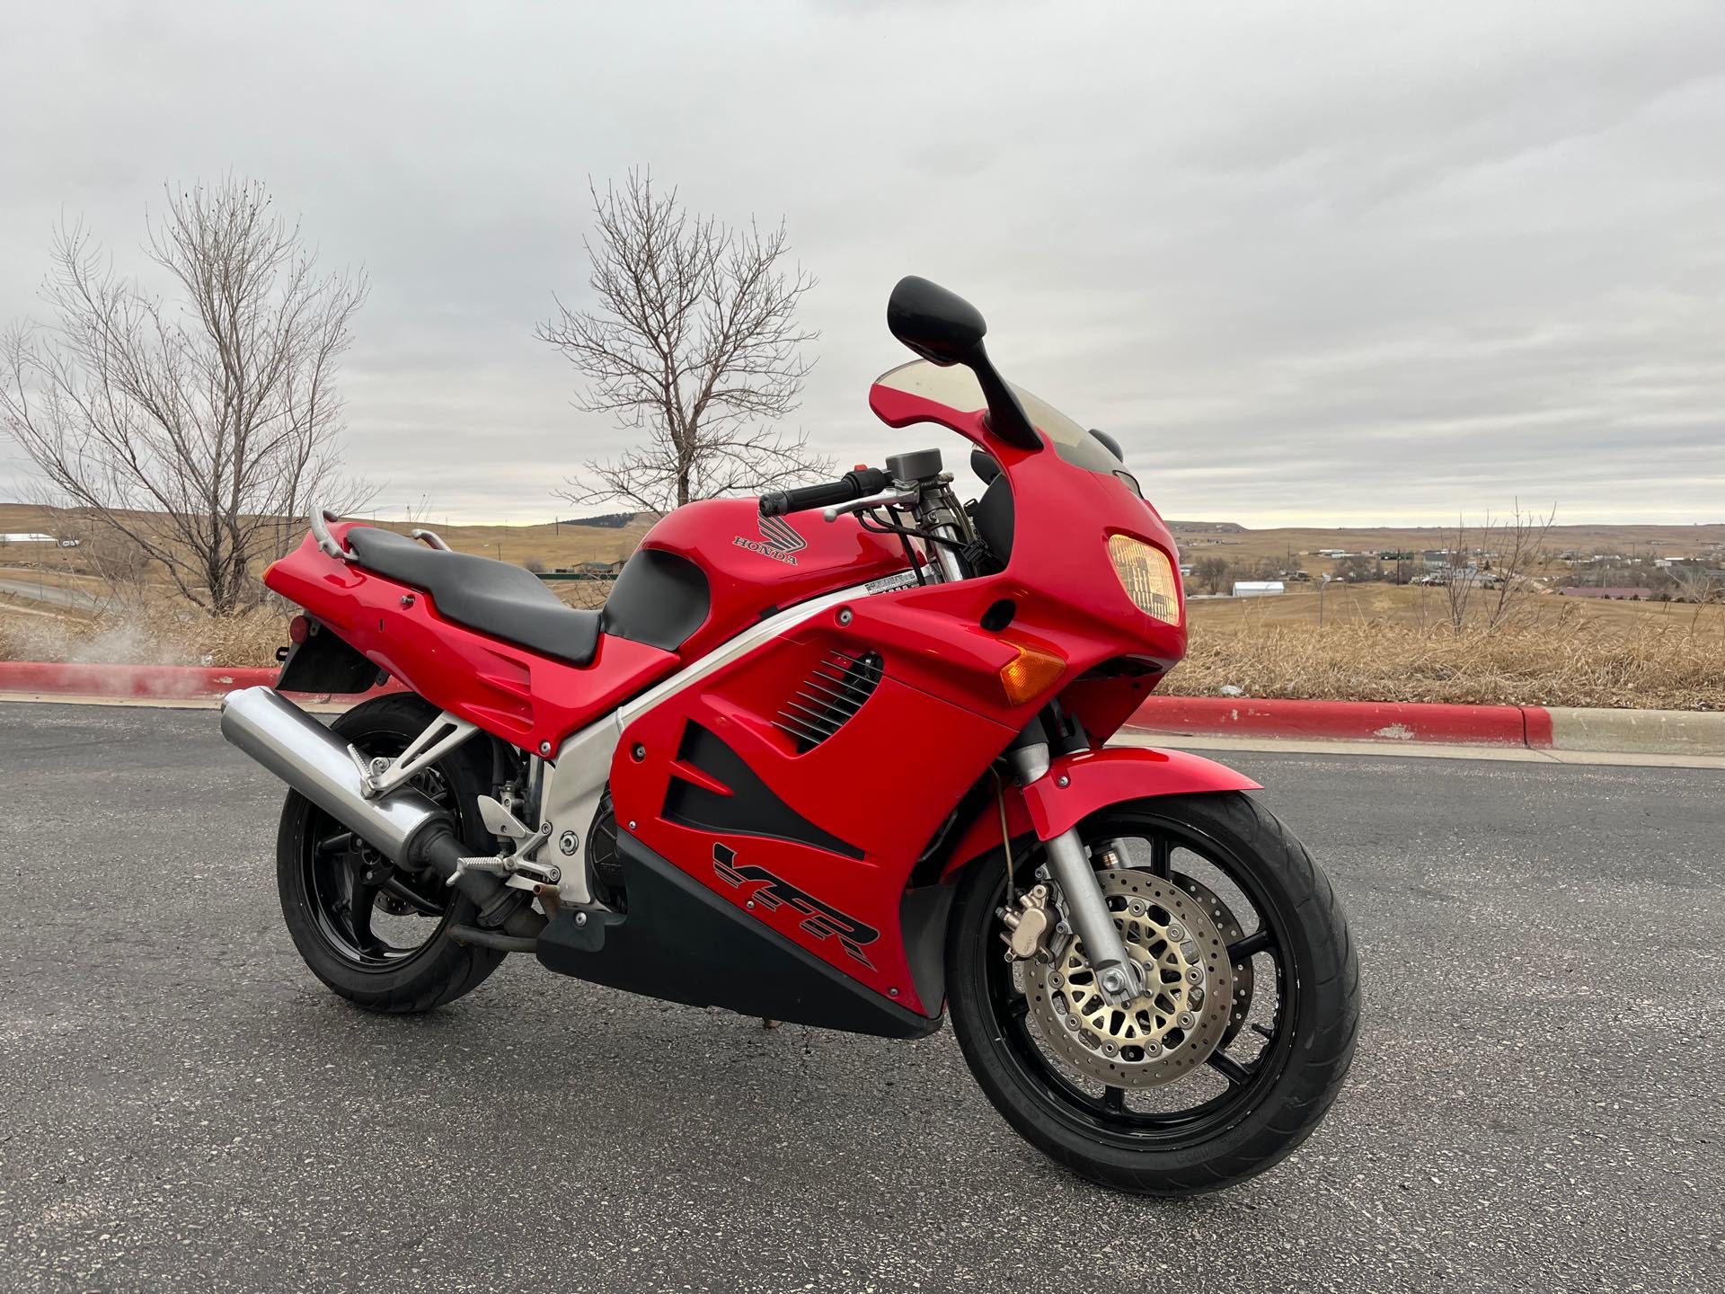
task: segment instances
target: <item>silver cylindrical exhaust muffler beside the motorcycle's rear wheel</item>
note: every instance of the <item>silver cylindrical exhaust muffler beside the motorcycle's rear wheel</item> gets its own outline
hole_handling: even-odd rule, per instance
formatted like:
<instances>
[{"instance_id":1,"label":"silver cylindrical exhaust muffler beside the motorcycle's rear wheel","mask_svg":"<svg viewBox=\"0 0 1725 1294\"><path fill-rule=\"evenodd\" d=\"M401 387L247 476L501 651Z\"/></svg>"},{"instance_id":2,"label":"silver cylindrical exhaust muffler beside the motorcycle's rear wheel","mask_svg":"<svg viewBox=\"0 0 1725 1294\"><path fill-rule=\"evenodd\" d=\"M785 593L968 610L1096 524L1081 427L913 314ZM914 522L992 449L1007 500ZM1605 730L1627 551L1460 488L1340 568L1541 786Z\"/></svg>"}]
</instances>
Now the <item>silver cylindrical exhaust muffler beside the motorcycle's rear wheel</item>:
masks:
<instances>
[{"instance_id":1,"label":"silver cylindrical exhaust muffler beside the motorcycle's rear wheel","mask_svg":"<svg viewBox=\"0 0 1725 1294\"><path fill-rule=\"evenodd\" d=\"M412 787L366 797L347 742L274 688L247 687L221 702L221 735L392 863L414 866L416 837L448 814Z\"/></svg>"}]
</instances>

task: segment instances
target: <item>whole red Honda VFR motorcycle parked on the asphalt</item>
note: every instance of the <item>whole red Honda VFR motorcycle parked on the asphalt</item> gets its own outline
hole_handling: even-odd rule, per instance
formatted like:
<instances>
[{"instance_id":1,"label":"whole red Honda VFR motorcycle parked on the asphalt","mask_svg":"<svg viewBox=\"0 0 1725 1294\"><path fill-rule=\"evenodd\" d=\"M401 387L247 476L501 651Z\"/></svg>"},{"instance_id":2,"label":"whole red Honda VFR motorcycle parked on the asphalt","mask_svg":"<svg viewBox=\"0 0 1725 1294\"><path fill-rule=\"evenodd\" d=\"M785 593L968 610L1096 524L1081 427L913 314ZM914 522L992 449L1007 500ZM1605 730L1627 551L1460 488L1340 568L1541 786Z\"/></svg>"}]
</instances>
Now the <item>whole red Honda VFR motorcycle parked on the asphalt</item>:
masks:
<instances>
[{"instance_id":1,"label":"whole red Honda VFR motorcycle parked on the asphalt","mask_svg":"<svg viewBox=\"0 0 1725 1294\"><path fill-rule=\"evenodd\" d=\"M426 1011L509 952L697 1006L952 1027L1033 1146L1211 1190L1347 1073L1359 977L1301 844L1178 751L1106 745L1185 652L1173 538L1120 447L1011 386L926 280L888 426L938 450L661 519L600 611L317 511L264 581L305 607L223 735L292 787L281 908L312 971ZM329 728L281 692L357 694Z\"/></svg>"}]
</instances>

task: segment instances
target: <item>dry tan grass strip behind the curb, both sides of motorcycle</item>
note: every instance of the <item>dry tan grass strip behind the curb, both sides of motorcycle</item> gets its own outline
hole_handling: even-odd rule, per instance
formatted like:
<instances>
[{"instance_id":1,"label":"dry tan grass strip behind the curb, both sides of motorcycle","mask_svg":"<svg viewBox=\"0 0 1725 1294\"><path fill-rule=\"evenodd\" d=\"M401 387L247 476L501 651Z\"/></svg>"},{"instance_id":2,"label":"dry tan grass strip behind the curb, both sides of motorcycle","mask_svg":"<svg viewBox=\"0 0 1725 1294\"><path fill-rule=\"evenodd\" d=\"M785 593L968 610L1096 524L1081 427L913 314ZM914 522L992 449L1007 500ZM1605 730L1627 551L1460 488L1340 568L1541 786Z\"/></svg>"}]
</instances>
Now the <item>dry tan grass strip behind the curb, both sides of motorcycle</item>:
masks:
<instances>
[{"instance_id":1,"label":"dry tan grass strip behind the curb, both sides of motorcycle","mask_svg":"<svg viewBox=\"0 0 1725 1294\"><path fill-rule=\"evenodd\" d=\"M552 588L585 607L609 592L600 581ZM269 666L290 614L210 619L169 600L100 616L21 606L38 614L0 614L0 659ZM1539 599L1520 626L1463 635L1423 609L1411 590L1332 590L1320 630L1309 594L1194 602L1190 652L1163 690L1725 711L1725 607Z\"/></svg>"}]
</instances>

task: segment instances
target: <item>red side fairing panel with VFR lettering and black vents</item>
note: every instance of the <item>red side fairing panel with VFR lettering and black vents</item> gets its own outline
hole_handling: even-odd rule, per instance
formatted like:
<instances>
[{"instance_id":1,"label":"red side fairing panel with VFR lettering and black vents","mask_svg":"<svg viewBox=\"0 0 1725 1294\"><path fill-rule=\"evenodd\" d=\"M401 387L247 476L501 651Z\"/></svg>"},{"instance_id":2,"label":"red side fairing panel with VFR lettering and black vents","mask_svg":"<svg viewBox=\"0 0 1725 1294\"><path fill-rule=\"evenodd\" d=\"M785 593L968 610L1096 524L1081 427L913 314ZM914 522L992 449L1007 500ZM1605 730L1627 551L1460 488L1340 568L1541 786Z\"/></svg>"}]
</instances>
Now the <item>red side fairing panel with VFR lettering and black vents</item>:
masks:
<instances>
[{"instance_id":1,"label":"red side fairing panel with VFR lettering and black vents","mask_svg":"<svg viewBox=\"0 0 1725 1294\"><path fill-rule=\"evenodd\" d=\"M624 730L611 794L618 823L642 844L852 978L933 1014L940 1002L923 1002L911 982L899 902L923 845L1013 730L907 682L926 682L925 673L888 664L849 723L812 749L799 749L775 725L787 697L830 652L856 656L871 647L888 663L904 659L878 645L873 631L849 631L835 609L740 657ZM714 740L747 764L759 788L714 771L702 754ZM930 757L933 747L937 757ZM714 806L700 792L733 801L735 818L730 806ZM697 804L702 799L706 807ZM778 821L775 801L800 821ZM856 923L861 935L847 947L830 927L811 923L807 911L719 883L716 844L738 866L761 866Z\"/></svg>"}]
</instances>

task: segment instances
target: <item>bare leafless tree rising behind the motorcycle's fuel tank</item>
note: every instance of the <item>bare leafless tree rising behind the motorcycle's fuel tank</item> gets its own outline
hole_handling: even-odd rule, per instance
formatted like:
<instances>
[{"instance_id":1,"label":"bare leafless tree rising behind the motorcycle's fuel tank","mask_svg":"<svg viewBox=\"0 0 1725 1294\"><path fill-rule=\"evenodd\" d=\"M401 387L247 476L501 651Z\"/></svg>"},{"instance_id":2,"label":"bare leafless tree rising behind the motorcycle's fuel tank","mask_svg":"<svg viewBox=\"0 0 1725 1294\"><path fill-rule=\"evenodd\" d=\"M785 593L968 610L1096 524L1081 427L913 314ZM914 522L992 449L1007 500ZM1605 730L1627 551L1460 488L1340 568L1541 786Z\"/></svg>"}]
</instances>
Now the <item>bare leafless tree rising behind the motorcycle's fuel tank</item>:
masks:
<instances>
[{"instance_id":1,"label":"bare leafless tree rising behind the motorcycle's fuel tank","mask_svg":"<svg viewBox=\"0 0 1725 1294\"><path fill-rule=\"evenodd\" d=\"M645 440L590 459L590 480L571 478L557 493L666 512L831 474L800 431L773 426L797 407L812 367L802 347L819 336L795 319L814 278L785 264L783 223L762 233L690 216L647 171L592 195L599 228L585 247L597 304L571 311L559 300L538 336L586 376L576 409L614 414Z\"/></svg>"}]
</instances>

